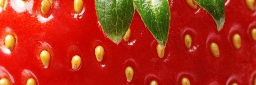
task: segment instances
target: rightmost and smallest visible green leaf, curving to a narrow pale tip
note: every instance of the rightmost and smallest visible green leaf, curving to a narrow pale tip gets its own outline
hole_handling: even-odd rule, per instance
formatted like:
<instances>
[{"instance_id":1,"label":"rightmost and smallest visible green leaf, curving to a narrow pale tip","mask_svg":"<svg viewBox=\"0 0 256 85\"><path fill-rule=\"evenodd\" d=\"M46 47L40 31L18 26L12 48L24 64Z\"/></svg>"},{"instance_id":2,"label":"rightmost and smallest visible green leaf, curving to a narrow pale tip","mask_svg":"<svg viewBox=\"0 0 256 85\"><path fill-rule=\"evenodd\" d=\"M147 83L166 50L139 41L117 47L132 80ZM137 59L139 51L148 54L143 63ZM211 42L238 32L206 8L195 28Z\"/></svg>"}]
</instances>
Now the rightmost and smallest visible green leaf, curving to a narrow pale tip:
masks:
<instances>
[{"instance_id":1,"label":"rightmost and smallest visible green leaf, curving to a narrow pale tip","mask_svg":"<svg viewBox=\"0 0 256 85\"><path fill-rule=\"evenodd\" d=\"M224 0L195 0L199 6L209 12L217 24L220 31L225 22Z\"/></svg>"}]
</instances>

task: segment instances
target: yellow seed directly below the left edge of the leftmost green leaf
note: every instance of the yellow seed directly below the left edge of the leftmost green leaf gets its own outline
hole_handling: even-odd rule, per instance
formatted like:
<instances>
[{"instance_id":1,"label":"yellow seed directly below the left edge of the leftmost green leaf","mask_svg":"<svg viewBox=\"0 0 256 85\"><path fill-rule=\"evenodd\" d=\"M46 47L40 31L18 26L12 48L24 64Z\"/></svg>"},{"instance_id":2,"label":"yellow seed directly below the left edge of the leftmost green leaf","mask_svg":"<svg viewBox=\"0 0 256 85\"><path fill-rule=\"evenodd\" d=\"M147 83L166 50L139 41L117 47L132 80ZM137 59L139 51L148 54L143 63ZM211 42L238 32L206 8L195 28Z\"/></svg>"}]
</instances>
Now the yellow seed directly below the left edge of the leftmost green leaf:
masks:
<instances>
[{"instance_id":1,"label":"yellow seed directly below the left edge of the leftmost green leaf","mask_svg":"<svg viewBox=\"0 0 256 85\"><path fill-rule=\"evenodd\" d=\"M95 56L98 62L101 62L104 56L104 48L102 46L97 46L95 48Z\"/></svg>"}]
</instances>

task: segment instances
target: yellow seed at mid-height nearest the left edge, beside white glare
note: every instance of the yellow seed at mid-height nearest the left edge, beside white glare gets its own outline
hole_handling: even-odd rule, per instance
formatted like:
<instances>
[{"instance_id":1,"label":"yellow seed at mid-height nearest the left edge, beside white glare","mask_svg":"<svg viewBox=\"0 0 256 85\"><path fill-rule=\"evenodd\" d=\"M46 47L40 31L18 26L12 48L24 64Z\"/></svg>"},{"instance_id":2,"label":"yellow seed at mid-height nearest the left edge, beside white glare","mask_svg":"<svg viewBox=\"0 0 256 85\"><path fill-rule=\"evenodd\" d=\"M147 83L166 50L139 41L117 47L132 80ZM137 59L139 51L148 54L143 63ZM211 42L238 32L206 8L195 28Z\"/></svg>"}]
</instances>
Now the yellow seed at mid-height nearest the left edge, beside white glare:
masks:
<instances>
[{"instance_id":1,"label":"yellow seed at mid-height nearest the left edge, beside white glare","mask_svg":"<svg viewBox=\"0 0 256 85\"><path fill-rule=\"evenodd\" d=\"M14 36L12 36L11 34L8 34L5 37L4 42L5 42L5 47L12 50L15 46L16 40L15 40Z\"/></svg>"}]
</instances>

